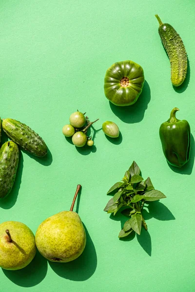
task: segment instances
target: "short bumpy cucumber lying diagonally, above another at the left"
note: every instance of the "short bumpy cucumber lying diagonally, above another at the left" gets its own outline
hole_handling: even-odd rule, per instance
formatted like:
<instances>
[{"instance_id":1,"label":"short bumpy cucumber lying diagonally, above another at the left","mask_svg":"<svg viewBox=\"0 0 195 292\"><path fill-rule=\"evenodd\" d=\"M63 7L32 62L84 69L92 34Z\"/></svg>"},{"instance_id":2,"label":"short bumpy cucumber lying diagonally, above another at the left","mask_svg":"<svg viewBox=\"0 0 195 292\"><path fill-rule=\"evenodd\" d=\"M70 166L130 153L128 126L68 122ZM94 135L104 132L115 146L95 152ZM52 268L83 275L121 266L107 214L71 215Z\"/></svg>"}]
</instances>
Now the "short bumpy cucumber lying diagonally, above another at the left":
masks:
<instances>
[{"instance_id":1,"label":"short bumpy cucumber lying diagonally, above another at the left","mask_svg":"<svg viewBox=\"0 0 195 292\"><path fill-rule=\"evenodd\" d=\"M7 136L26 151L35 156L43 157L47 154L47 146L35 131L13 119L2 121L3 131Z\"/></svg>"}]
</instances>

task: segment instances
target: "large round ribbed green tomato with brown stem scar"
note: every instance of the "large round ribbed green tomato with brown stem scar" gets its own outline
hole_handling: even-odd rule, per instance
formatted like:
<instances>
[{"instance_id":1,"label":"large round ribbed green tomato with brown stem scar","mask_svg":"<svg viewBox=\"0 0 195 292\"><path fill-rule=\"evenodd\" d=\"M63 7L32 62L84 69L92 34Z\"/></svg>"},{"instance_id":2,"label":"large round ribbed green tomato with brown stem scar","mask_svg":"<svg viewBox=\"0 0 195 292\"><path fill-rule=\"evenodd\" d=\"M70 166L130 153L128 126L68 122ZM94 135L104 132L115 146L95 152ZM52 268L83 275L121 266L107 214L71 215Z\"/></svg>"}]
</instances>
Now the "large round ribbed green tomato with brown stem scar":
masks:
<instances>
[{"instance_id":1,"label":"large round ribbed green tomato with brown stem scar","mask_svg":"<svg viewBox=\"0 0 195 292\"><path fill-rule=\"evenodd\" d=\"M114 63L104 78L105 96L116 106L131 106L139 97L144 84L144 73L133 61Z\"/></svg>"}]
</instances>

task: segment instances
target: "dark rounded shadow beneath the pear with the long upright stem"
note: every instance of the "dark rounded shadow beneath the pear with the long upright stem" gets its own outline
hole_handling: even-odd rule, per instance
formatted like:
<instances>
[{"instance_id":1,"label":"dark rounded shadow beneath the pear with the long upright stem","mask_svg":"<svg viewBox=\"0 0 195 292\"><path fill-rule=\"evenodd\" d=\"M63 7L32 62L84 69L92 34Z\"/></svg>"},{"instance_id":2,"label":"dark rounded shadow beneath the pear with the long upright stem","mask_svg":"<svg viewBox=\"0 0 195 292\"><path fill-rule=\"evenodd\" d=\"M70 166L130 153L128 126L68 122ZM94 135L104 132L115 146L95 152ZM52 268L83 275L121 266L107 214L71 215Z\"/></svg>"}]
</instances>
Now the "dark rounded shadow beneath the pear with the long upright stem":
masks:
<instances>
[{"instance_id":1,"label":"dark rounded shadow beneath the pear with the long upright stem","mask_svg":"<svg viewBox=\"0 0 195 292\"><path fill-rule=\"evenodd\" d=\"M87 240L85 249L81 256L68 263L55 263L48 261L52 270L62 278L72 281L86 281L96 271L98 262L96 249L85 226L84 228Z\"/></svg>"}]
</instances>

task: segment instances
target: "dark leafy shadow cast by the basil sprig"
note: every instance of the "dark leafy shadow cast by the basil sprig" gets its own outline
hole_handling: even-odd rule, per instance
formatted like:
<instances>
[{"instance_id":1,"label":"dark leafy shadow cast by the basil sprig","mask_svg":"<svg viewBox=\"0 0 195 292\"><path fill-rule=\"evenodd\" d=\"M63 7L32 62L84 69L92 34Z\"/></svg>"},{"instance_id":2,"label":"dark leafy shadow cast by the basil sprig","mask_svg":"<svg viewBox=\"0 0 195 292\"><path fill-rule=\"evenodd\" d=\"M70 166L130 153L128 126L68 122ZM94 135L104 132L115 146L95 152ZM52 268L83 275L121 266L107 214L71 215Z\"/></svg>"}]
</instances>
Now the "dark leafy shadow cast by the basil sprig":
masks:
<instances>
[{"instance_id":1,"label":"dark leafy shadow cast by the basil sprig","mask_svg":"<svg viewBox=\"0 0 195 292\"><path fill-rule=\"evenodd\" d=\"M148 205L145 207L148 209L142 209L142 215L145 220L155 218L157 220L162 220L162 221L167 221L167 220L175 220L176 218L174 215L171 213L171 211L160 201L153 201L153 202L148 202ZM121 208L121 212L125 209L126 207ZM131 209L129 209L131 211ZM124 226L124 223L130 219L129 216L123 215L121 213L117 213L115 216L113 213L110 215L110 219L115 220L115 221L120 221L121 224L121 229ZM136 233L133 231L128 235L127 237L122 237L119 238L122 241L131 241L134 239ZM143 250L149 255L152 255L152 240L151 236L148 231L146 231L143 226L141 228L141 234L137 234L137 241L139 242L140 246L143 248Z\"/></svg>"}]
</instances>

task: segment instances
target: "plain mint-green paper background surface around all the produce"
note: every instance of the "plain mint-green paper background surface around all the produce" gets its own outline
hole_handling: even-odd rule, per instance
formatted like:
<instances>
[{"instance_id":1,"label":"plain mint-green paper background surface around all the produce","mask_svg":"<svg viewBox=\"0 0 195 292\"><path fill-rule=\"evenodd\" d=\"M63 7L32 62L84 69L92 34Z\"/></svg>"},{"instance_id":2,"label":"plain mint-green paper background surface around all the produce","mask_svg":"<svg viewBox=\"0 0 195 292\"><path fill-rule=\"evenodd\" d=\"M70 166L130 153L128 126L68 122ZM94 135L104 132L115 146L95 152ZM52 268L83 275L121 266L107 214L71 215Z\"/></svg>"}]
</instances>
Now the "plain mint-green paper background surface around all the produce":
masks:
<instances>
[{"instance_id":1,"label":"plain mint-green paper background surface around all the produce","mask_svg":"<svg viewBox=\"0 0 195 292\"><path fill-rule=\"evenodd\" d=\"M155 14L174 26L188 53L187 78L177 89ZM174 169L158 137L174 107L195 135L194 23L193 0L0 0L0 116L26 123L50 150L43 159L21 151L0 221L21 221L35 233L44 219L70 208L80 183L87 230L85 251L71 263L49 263L38 254L23 270L0 269L0 292L195 291L195 143L190 162ZM134 106L117 108L104 96L104 75L128 59L143 67L146 81ZM99 118L96 130L105 120L116 122L119 139L100 130L93 148L67 142L61 129L77 109ZM145 211L148 232L119 240L126 218L103 208L107 190L133 160L167 198Z\"/></svg>"}]
</instances>

